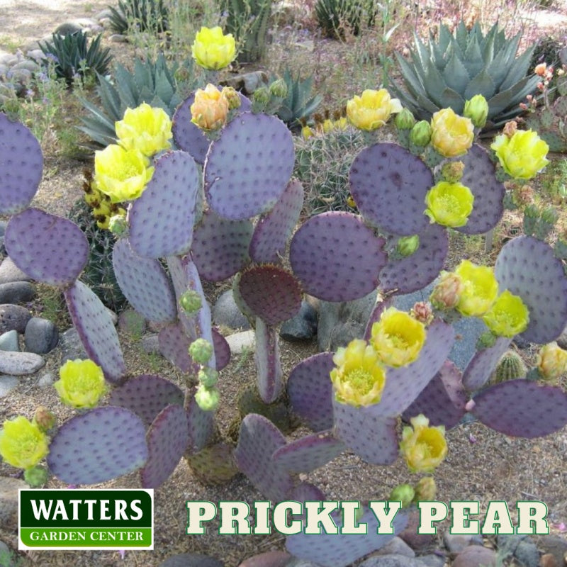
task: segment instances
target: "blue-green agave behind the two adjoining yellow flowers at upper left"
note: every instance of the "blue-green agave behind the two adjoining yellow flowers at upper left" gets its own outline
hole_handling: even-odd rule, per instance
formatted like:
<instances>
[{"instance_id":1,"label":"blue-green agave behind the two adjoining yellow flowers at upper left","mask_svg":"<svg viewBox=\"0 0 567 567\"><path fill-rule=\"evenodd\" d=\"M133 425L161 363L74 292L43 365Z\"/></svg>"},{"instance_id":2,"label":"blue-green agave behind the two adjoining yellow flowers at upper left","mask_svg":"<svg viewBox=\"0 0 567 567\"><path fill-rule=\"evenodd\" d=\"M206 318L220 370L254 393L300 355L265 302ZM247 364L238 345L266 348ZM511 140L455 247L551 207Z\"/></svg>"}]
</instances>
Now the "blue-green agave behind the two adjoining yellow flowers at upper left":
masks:
<instances>
[{"instance_id":1,"label":"blue-green agave behind the two adjoining yellow flowers at upper left","mask_svg":"<svg viewBox=\"0 0 567 567\"><path fill-rule=\"evenodd\" d=\"M116 142L114 123L122 120L126 108L136 108L142 102L163 108L172 116L176 106L183 100L183 89L177 82L181 80L188 90L193 84L193 62L185 62L182 66L174 62L168 67L165 57L160 53L157 60L150 58L143 61L134 60L133 71L130 72L122 64L116 64L114 69L115 81L99 76L99 96L102 108L82 100L83 106L89 111L89 116L81 118L83 125L79 126L99 145L106 146Z\"/></svg>"}]
</instances>

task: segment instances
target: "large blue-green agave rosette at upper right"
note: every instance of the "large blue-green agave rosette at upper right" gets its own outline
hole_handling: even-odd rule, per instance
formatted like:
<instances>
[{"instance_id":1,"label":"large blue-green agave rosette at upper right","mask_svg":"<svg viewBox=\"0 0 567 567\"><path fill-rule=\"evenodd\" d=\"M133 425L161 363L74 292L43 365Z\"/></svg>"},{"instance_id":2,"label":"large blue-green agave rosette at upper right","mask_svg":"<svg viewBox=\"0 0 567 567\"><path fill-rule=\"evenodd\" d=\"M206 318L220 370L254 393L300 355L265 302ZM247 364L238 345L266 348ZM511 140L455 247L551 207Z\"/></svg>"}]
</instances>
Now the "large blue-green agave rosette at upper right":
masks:
<instances>
[{"instance_id":1,"label":"large blue-green agave rosette at upper right","mask_svg":"<svg viewBox=\"0 0 567 567\"><path fill-rule=\"evenodd\" d=\"M503 125L520 114L520 103L536 89L539 78L528 75L534 47L516 57L521 33L507 39L496 23L483 35L478 22L467 30L463 21L454 35L439 27L437 41L425 45L415 35L412 61L395 53L407 91L391 88L403 104L427 120L440 108L462 113L465 101L482 94L488 101L485 130Z\"/></svg>"}]
</instances>

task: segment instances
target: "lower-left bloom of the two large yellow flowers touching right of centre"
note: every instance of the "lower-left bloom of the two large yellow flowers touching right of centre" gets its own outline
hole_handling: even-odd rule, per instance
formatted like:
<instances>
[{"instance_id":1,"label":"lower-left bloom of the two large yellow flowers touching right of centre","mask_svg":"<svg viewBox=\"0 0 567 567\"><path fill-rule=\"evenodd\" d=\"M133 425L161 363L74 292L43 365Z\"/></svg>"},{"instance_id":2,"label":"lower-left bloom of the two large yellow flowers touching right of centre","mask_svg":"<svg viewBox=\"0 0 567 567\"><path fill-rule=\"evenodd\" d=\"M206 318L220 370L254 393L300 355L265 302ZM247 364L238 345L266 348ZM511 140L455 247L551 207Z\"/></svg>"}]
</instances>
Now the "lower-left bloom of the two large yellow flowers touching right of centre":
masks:
<instances>
[{"instance_id":1,"label":"lower-left bloom of the two large yellow flowers touching right of centre","mask_svg":"<svg viewBox=\"0 0 567 567\"><path fill-rule=\"evenodd\" d=\"M360 407L378 403L386 385L386 372L376 351L362 339L337 349L332 358L336 367L330 376L335 399Z\"/></svg>"}]
</instances>

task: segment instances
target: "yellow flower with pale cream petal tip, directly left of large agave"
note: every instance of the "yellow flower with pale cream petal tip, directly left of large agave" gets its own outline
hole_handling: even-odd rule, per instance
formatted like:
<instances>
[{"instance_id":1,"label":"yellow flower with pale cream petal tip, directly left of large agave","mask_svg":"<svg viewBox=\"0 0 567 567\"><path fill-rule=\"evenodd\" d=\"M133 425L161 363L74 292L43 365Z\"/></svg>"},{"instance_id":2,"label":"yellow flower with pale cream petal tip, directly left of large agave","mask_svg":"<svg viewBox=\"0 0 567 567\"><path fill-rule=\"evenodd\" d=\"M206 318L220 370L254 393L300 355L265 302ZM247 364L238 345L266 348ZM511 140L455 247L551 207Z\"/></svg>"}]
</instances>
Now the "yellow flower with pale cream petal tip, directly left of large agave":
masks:
<instances>
[{"instance_id":1,"label":"yellow flower with pale cream petal tip, directly left of large agave","mask_svg":"<svg viewBox=\"0 0 567 567\"><path fill-rule=\"evenodd\" d=\"M347 118L360 130L376 130L390 118L391 114L402 111L398 99L391 99L386 89L366 89L362 96L354 96L347 102Z\"/></svg>"}]
</instances>

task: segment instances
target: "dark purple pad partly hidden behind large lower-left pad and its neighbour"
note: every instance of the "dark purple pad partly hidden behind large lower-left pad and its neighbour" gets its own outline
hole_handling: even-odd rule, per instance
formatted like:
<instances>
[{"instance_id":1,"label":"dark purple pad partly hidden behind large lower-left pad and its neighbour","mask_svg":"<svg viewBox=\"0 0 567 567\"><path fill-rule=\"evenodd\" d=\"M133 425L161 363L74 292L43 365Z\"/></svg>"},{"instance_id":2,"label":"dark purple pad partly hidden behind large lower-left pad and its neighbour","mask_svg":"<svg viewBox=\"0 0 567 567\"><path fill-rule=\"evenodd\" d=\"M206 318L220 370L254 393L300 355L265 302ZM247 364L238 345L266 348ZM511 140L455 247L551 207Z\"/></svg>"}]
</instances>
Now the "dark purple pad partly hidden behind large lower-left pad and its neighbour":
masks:
<instances>
[{"instance_id":1,"label":"dark purple pad partly hidden behind large lower-left pad and its neighbour","mask_svg":"<svg viewBox=\"0 0 567 567\"><path fill-rule=\"evenodd\" d=\"M150 424L167 405L183 407L183 392L173 382L153 374L134 376L122 386L114 388L108 403L133 411L145 423Z\"/></svg>"}]
</instances>

